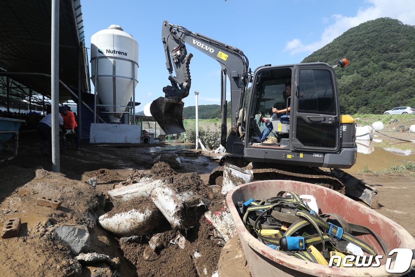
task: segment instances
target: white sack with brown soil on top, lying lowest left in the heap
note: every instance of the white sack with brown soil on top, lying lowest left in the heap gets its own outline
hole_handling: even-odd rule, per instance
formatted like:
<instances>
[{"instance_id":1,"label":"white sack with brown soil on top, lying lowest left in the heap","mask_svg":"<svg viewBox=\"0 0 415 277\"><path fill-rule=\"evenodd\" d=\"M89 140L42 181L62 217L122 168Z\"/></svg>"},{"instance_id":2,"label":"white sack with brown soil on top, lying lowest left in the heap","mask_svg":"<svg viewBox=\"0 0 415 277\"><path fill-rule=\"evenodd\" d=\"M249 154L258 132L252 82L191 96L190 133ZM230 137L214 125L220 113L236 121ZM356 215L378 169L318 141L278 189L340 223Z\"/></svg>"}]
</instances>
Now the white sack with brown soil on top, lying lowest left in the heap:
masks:
<instances>
[{"instance_id":1,"label":"white sack with brown soil on top, lying lowest left in the heap","mask_svg":"<svg viewBox=\"0 0 415 277\"><path fill-rule=\"evenodd\" d=\"M145 235L164 222L163 215L149 198L124 202L98 219L100 225L120 237Z\"/></svg>"}]
</instances>

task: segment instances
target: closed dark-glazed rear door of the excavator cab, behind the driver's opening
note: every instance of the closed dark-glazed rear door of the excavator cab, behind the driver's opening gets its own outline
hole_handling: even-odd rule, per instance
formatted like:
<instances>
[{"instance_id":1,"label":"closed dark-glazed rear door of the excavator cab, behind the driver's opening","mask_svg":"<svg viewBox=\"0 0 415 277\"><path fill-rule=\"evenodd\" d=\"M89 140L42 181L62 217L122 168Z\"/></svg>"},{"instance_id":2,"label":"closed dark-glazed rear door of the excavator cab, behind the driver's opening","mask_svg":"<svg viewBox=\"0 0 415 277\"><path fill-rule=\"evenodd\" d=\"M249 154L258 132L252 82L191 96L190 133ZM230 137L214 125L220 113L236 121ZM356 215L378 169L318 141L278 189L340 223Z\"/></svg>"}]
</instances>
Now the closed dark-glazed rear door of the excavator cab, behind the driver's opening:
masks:
<instances>
[{"instance_id":1,"label":"closed dark-glazed rear door of the excavator cab, behind the driver's opening","mask_svg":"<svg viewBox=\"0 0 415 277\"><path fill-rule=\"evenodd\" d=\"M294 78L290 134L293 149L338 151L340 112L333 69L322 64L298 65Z\"/></svg>"}]
</instances>

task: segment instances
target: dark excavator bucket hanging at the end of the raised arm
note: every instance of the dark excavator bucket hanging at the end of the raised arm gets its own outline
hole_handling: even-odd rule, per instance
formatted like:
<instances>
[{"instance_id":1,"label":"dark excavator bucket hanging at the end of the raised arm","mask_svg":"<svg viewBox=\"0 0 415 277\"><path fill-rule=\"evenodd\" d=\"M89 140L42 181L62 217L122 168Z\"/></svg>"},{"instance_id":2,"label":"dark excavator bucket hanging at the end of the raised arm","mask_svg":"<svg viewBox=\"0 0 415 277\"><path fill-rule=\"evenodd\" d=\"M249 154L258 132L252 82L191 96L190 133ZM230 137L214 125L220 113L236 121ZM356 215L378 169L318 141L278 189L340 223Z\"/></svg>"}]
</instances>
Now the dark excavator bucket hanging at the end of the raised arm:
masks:
<instances>
[{"instance_id":1,"label":"dark excavator bucket hanging at the end of the raised arm","mask_svg":"<svg viewBox=\"0 0 415 277\"><path fill-rule=\"evenodd\" d=\"M183 133L183 106L183 101L159 97L151 103L150 113L166 134Z\"/></svg>"}]
</instances>

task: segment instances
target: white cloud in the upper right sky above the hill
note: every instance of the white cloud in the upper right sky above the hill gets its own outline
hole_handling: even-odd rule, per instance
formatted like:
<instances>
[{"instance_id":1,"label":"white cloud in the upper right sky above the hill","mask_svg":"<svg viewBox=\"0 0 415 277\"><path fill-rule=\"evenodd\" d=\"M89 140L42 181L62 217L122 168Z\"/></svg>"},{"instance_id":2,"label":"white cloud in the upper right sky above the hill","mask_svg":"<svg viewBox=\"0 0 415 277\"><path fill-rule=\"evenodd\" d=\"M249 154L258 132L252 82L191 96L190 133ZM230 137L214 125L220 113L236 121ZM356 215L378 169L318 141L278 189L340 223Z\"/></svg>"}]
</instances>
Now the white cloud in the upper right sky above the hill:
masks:
<instances>
[{"instance_id":1,"label":"white cloud in the upper right sky above the hill","mask_svg":"<svg viewBox=\"0 0 415 277\"><path fill-rule=\"evenodd\" d=\"M404 24L415 25L414 0L367 0L367 2L371 3L371 6L366 9L359 9L356 16L332 15L335 22L325 28L320 40L303 44L301 40L295 38L287 42L284 51L289 51L291 54L311 53L332 42L350 28L379 17L391 17L402 21Z\"/></svg>"}]
</instances>

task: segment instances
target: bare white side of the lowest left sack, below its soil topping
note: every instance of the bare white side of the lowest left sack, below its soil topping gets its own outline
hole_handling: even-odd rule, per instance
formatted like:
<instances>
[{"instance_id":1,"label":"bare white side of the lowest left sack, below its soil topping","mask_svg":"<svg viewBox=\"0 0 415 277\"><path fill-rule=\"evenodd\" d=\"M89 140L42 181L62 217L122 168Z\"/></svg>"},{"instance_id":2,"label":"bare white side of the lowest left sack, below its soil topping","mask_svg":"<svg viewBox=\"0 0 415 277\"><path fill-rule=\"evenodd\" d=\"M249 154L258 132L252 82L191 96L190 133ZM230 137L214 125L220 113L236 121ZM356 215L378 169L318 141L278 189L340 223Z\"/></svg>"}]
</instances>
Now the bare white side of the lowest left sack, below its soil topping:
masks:
<instances>
[{"instance_id":1,"label":"bare white side of the lowest left sack, below its soil topping","mask_svg":"<svg viewBox=\"0 0 415 277\"><path fill-rule=\"evenodd\" d=\"M150 202L151 203L151 202ZM145 210L132 208L127 212L109 216L108 213L98 218L100 225L120 237L145 235L163 222L160 211L154 207Z\"/></svg>"}]
</instances>

